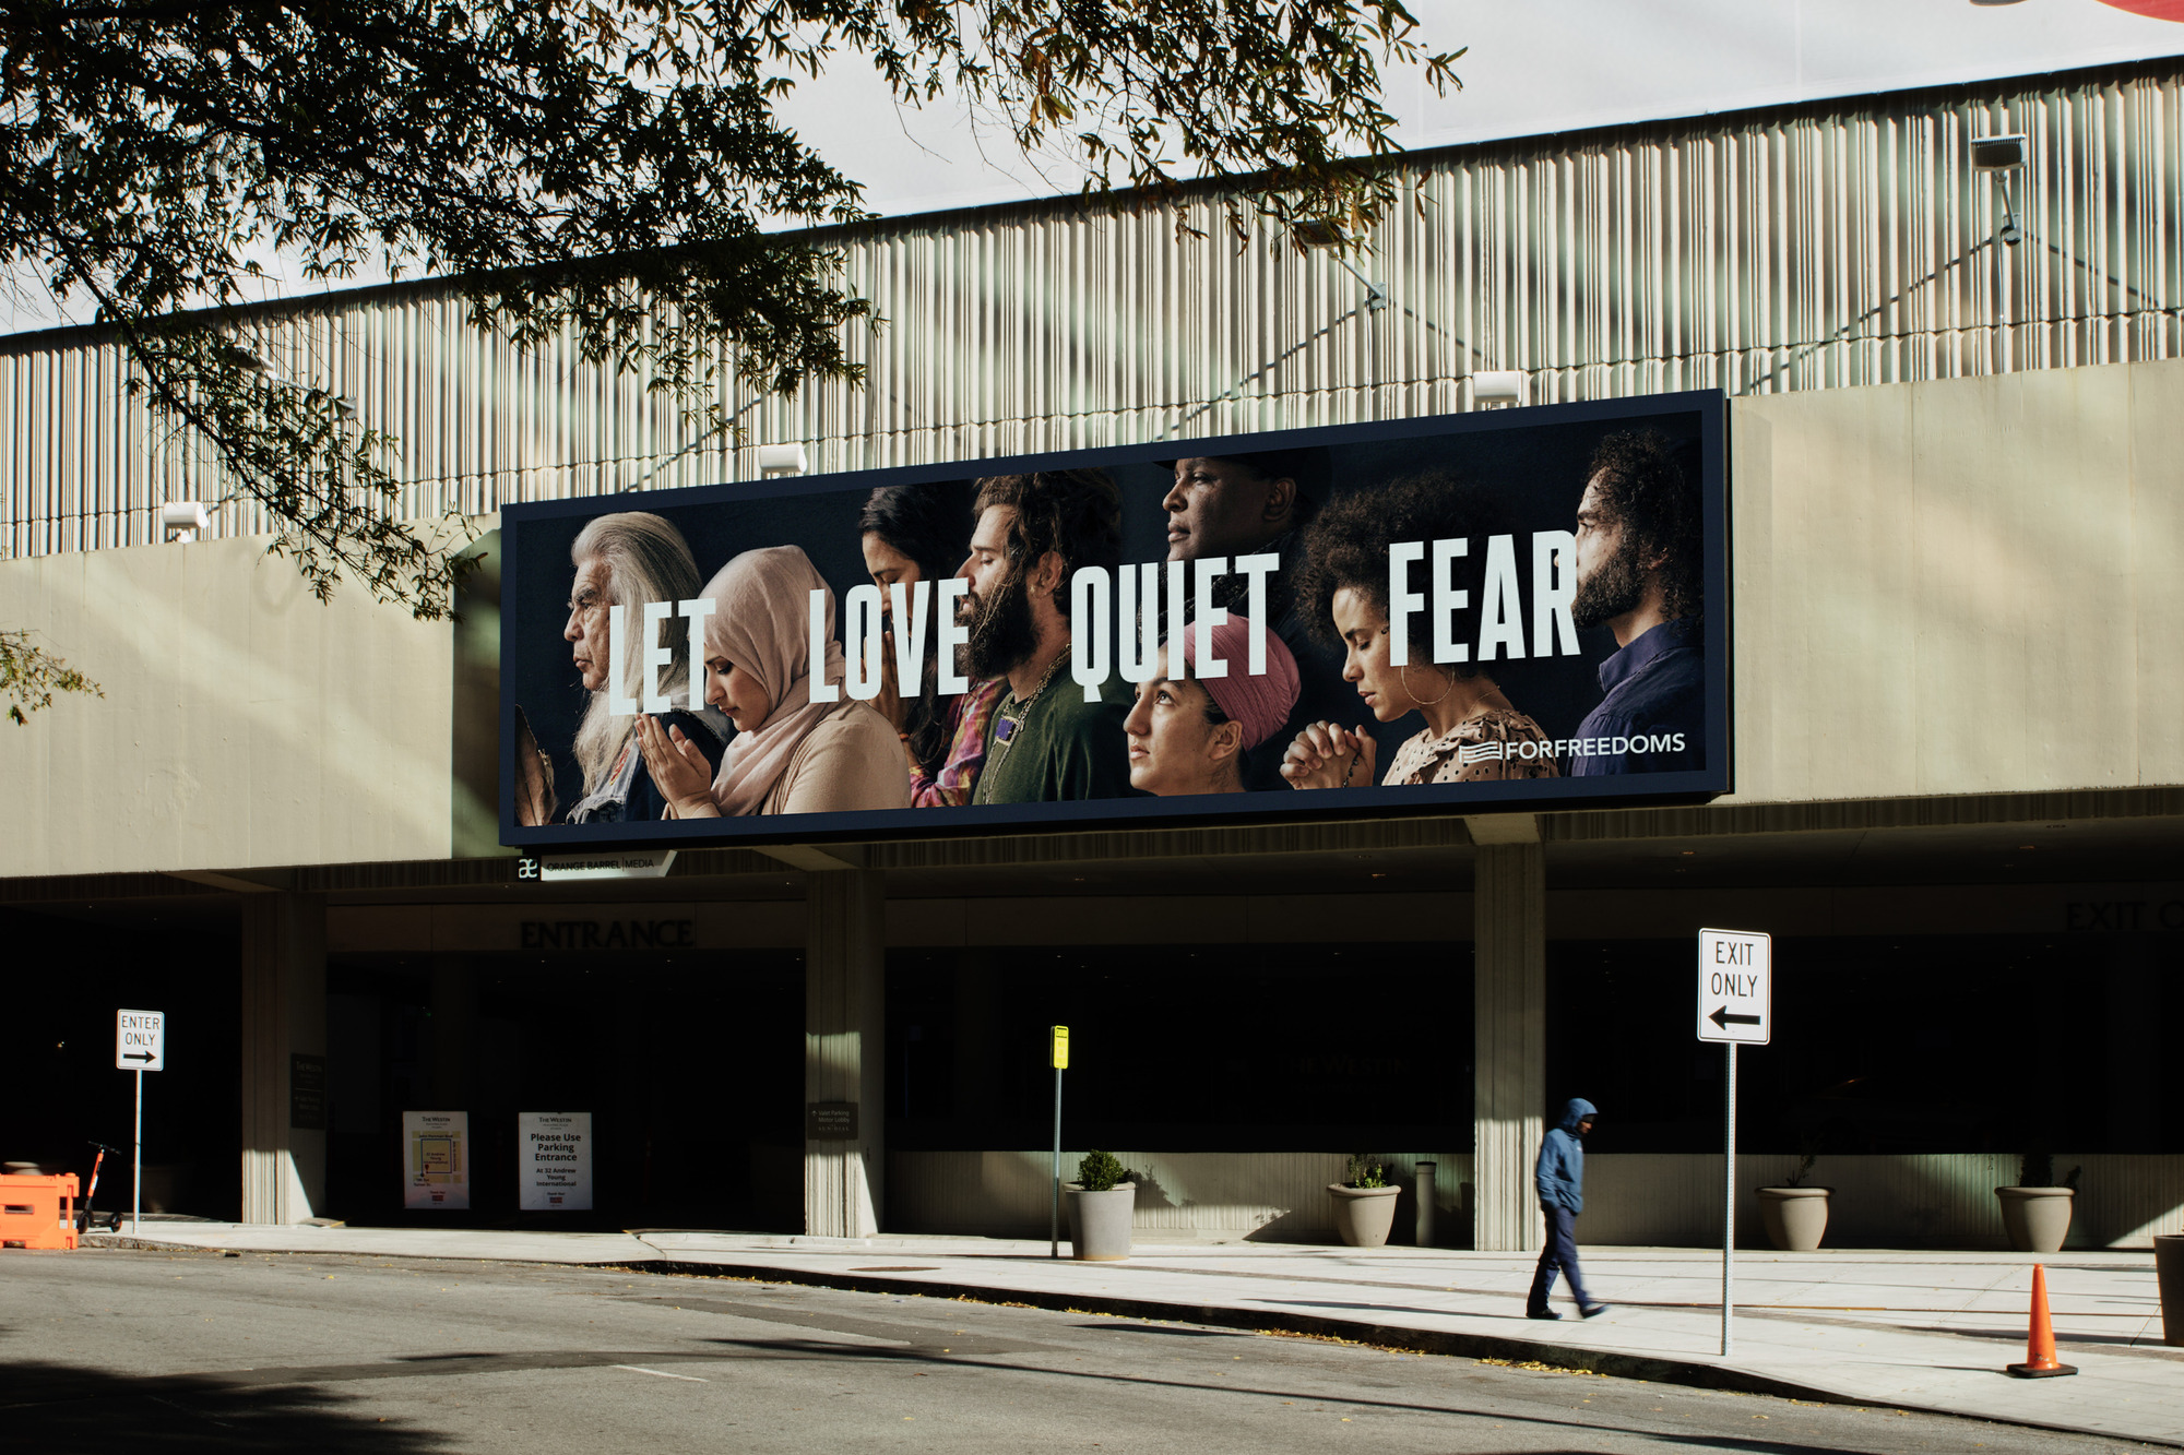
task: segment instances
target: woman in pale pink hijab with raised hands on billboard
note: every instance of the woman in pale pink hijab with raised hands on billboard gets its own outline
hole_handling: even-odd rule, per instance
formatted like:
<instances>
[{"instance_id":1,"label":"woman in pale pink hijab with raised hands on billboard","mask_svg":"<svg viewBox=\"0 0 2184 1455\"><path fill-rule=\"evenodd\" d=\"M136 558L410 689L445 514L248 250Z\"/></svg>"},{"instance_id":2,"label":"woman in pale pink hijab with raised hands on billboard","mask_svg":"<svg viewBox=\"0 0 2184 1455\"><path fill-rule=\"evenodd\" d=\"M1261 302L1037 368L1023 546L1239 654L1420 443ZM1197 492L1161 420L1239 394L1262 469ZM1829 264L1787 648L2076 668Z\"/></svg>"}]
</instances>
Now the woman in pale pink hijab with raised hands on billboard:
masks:
<instances>
[{"instance_id":1,"label":"woman in pale pink hijab with raised hands on billboard","mask_svg":"<svg viewBox=\"0 0 2184 1455\"><path fill-rule=\"evenodd\" d=\"M826 662L810 660L810 594L826 592ZM745 551L705 583L705 701L736 723L714 776L695 743L638 719L644 767L679 819L909 808L902 745L871 703L810 699L843 677L834 592L797 546Z\"/></svg>"}]
</instances>

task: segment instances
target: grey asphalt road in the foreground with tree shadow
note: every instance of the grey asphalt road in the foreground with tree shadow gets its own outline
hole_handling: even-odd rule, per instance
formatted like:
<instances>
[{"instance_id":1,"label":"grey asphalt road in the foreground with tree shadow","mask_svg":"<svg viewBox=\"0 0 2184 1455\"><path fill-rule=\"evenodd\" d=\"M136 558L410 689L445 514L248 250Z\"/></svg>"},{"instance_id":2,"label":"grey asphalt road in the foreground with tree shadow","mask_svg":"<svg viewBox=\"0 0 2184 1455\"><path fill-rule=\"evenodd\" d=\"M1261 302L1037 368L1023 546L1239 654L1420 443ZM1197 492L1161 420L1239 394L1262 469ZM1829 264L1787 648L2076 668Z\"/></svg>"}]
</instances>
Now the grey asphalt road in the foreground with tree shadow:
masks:
<instances>
[{"instance_id":1,"label":"grey asphalt road in the foreground with tree shadow","mask_svg":"<svg viewBox=\"0 0 2184 1455\"><path fill-rule=\"evenodd\" d=\"M0 1252L9 1455L2118 1451L2116 1440L740 1278Z\"/></svg>"}]
</instances>

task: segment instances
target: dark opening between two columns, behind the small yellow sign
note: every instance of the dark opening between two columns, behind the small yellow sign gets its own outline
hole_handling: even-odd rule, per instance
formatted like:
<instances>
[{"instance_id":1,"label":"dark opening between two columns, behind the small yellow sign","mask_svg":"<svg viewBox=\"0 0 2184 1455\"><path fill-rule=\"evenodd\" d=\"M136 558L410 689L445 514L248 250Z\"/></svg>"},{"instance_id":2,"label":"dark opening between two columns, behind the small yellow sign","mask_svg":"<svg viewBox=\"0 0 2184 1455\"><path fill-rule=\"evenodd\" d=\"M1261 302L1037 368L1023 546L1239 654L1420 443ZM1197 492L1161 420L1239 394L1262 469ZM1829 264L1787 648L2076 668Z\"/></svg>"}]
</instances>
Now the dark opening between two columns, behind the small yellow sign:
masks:
<instances>
[{"instance_id":1,"label":"dark opening between two columns, behind the small yellow sign","mask_svg":"<svg viewBox=\"0 0 2184 1455\"><path fill-rule=\"evenodd\" d=\"M1053 1025L1066 1147L1472 1145L1470 944L891 950L889 1145L1046 1147Z\"/></svg>"}]
</instances>

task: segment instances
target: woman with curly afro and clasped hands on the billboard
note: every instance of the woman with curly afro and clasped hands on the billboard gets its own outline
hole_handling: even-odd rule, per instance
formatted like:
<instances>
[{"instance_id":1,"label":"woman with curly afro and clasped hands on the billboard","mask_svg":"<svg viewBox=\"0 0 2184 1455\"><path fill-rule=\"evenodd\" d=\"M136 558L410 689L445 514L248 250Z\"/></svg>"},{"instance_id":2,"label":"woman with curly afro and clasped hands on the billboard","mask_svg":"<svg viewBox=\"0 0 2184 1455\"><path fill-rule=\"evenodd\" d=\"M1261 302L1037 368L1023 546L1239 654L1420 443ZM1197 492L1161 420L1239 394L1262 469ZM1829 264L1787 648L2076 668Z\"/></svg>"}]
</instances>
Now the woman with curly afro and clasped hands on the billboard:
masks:
<instances>
[{"instance_id":1,"label":"woman with curly afro and clasped hands on the billboard","mask_svg":"<svg viewBox=\"0 0 2184 1455\"><path fill-rule=\"evenodd\" d=\"M1476 662L1420 662L1420 655L1431 653L1422 653L1417 644L1409 651L1411 662L1389 662L1389 544L1468 537L1483 546L1494 533L1487 502L1441 470L1341 496L1306 527L1297 610L1315 629L1341 642L1343 679L1356 686L1378 721L1393 723L1415 712L1424 725L1376 778L1378 747L1363 725L1308 723L1282 758L1289 786L1557 776L1553 741L1509 703Z\"/></svg>"}]
</instances>

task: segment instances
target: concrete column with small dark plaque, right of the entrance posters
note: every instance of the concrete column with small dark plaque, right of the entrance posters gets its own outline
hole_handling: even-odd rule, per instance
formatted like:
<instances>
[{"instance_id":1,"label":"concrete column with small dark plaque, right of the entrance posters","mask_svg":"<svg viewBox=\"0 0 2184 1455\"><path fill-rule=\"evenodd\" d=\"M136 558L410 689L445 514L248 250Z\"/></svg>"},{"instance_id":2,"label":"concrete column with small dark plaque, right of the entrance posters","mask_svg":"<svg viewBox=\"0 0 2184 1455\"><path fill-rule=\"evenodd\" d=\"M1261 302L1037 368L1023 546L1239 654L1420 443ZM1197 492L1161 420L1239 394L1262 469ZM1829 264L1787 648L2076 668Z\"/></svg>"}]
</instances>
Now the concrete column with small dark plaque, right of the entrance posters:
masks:
<instances>
[{"instance_id":1,"label":"concrete column with small dark plaque, right of the entrance posters","mask_svg":"<svg viewBox=\"0 0 2184 1455\"><path fill-rule=\"evenodd\" d=\"M812 872L804 913L804 1101L856 1108L850 1138L810 1138L806 1125L804 1230L869 1239L885 1212L885 878L878 870Z\"/></svg>"}]
</instances>

